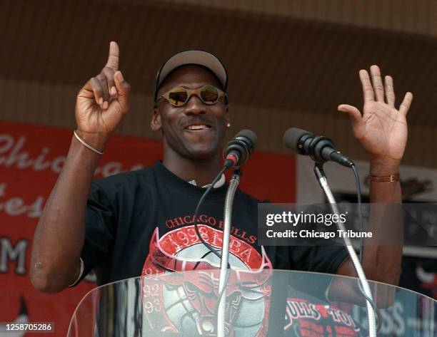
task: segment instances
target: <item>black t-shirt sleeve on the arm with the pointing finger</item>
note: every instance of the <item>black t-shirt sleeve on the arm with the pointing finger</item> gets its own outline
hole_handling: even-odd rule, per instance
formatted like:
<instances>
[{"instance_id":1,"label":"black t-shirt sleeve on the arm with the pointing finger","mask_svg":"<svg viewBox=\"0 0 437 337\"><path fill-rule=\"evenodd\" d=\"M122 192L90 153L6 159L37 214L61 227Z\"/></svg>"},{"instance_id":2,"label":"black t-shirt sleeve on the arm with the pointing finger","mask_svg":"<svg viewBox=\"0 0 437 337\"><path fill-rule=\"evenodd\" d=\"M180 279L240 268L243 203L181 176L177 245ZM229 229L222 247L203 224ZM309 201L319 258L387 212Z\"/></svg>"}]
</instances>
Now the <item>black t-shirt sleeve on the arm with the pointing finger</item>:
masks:
<instances>
[{"instance_id":1,"label":"black t-shirt sleeve on the arm with the pointing finger","mask_svg":"<svg viewBox=\"0 0 437 337\"><path fill-rule=\"evenodd\" d=\"M81 279L111 254L115 232L114 207L104 188L97 182L91 184L85 214L85 242L81 252L84 272ZM79 283L79 282L78 282Z\"/></svg>"}]
</instances>

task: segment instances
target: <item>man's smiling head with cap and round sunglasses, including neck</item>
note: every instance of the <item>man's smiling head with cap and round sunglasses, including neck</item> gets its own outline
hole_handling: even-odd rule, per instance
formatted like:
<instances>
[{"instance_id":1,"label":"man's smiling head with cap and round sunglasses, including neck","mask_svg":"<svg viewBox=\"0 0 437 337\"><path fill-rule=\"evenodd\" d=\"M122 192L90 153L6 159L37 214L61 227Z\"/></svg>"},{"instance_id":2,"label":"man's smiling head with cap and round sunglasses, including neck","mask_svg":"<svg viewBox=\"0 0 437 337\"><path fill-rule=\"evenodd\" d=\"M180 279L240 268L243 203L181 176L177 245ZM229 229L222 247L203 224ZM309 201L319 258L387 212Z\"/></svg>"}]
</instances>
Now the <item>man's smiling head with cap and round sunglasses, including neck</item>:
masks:
<instances>
[{"instance_id":1,"label":"man's smiling head with cap and round sunglasses, including neck","mask_svg":"<svg viewBox=\"0 0 437 337\"><path fill-rule=\"evenodd\" d=\"M211 63L215 58L202 51L182 52L176 58L194 62L189 56L204 56ZM194 64L176 67L167 76L161 73L151 128L163 133L164 166L186 181L207 185L221 169L218 150L230 125L223 93L226 71L221 69L223 83L205 66Z\"/></svg>"}]
</instances>

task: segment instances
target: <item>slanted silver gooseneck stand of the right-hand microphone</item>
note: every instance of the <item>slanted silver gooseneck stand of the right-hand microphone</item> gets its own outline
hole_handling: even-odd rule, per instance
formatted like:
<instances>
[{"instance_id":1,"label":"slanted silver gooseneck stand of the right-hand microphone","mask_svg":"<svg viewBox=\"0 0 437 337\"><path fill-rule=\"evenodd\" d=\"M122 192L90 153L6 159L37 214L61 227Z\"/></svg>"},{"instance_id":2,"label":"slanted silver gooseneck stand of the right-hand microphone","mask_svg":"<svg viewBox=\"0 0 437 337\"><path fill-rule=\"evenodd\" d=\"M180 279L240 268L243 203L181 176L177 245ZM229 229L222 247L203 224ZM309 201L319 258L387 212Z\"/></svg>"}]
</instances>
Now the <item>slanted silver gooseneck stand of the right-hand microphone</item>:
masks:
<instances>
[{"instance_id":1,"label":"slanted silver gooseneck stand of the right-hand microphone","mask_svg":"<svg viewBox=\"0 0 437 337\"><path fill-rule=\"evenodd\" d=\"M336 214L340 219L340 212L338 212L336 199L333 197L331 188L329 188L328 185L328 180L326 180L326 174L323 171L323 163L316 162L316 164L314 165L314 173L316 175L318 183L321 186L321 189L323 190L323 192L326 195L326 198L328 199L332 212ZM341 221L337 222L337 227L338 229L343 231L343 233L346 233L346 228L344 227L343 222ZM376 337L376 312L375 312L375 306L373 304L371 289L366 279L366 274L364 274L363 266L361 266L358 256L356 255L355 249L353 249L351 240L346 235L344 235L343 241L346 246L346 249L348 250L348 254L351 257L353 266L355 267L355 270L358 274L361 291L364 293L364 296L366 297L369 336Z\"/></svg>"}]
</instances>

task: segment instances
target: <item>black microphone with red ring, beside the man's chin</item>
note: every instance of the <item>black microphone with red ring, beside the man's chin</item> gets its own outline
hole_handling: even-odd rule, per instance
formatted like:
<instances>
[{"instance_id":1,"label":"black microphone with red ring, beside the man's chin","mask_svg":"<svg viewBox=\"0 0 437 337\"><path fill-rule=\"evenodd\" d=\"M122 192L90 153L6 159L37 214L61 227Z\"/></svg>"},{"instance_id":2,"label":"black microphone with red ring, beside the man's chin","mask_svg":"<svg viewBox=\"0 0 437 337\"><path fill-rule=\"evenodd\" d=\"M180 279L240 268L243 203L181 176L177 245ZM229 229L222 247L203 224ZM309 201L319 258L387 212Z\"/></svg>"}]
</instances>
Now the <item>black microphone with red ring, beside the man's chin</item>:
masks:
<instances>
[{"instance_id":1,"label":"black microphone with red ring, beside the man's chin","mask_svg":"<svg viewBox=\"0 0 437 337\"><path fill-rule=\"evenodd\" d=\"M258 138L251 130L241 130L223 148L224 167L240 167L255 150Z\"/></svg>"}]
</instances>

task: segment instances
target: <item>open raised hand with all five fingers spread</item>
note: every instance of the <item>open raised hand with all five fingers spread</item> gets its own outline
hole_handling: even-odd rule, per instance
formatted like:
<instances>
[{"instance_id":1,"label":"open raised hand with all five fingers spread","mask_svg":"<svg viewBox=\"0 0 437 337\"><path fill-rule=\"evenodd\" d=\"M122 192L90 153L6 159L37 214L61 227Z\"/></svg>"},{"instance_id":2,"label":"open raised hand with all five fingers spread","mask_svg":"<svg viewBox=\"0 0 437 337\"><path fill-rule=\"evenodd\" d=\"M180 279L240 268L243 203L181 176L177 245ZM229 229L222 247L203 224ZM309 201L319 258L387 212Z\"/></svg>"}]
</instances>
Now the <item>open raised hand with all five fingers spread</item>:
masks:
<instances>
[{"instance_id":1,"label":"open raised hand with all five fingers spread","mask_svg":"<svg viewBox=\"0 0 437 337\"><path fill-rule=\"evenodd\" d=\"M352 105L338 105L338 110L350 116L353 135L361 142L371 161L388 170L397 170L406 147L406 114L413 94L406 93L396 109L391 76L384 78L383 85L378 66L371 66L372 81L365 70L361 70L359 75L363 86L363 115Z\"/></svg>"}]
</instances>

